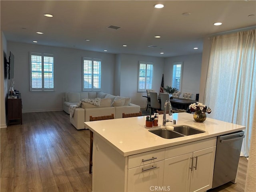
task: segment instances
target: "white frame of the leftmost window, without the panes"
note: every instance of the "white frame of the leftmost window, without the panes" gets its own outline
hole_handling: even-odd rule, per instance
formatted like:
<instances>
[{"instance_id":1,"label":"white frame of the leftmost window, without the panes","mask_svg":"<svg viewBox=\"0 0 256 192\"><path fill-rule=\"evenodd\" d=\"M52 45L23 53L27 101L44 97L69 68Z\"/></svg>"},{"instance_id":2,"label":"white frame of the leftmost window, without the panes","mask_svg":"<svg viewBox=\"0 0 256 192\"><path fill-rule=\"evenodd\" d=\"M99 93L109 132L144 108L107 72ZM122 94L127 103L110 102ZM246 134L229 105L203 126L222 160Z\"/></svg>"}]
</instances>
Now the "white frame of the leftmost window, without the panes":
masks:
<instances>
[{"instance_id":1,"label":"white frame of the leftmost window, without the panes","mask_svg":"<svg viewBox=\"0 0 256 192\"><path fill-rule=\"evenodd\" d=\"M32 88L32 56L41 56L42 58L42 88ZM53 58L53 88L44 88L44 57ZM30 91L55 91L55 65L54 65L54 54L49 53L38 53L38 52L29 52L29 72L30 72Z\"/></svg>"}]
</instances>

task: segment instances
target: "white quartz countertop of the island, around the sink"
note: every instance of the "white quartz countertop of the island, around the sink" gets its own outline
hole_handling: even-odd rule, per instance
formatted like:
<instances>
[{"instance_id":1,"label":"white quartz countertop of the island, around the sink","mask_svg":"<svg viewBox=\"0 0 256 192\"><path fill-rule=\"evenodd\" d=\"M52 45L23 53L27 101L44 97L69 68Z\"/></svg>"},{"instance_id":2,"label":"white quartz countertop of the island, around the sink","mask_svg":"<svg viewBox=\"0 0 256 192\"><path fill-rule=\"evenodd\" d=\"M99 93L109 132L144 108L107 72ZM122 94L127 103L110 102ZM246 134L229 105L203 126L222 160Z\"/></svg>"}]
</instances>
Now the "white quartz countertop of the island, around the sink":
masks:
<instances>
[{"instance_id":1,"label":"white quartz countertop of the island, around the sink","mask_svg":"<svg viewBox=\"0 0 256 192\"><path fill-rule=\"evenodd\" d=\"M159 125L162 124L162 118L163 115L159 115ZM189 113L174 113L172 116L167 114L166 119L175 119L176 126L188 125L205 132L179 138L165 139L148 131L150 128L144 126L146 116L84 123L86 128L92 130L94 134L97 134L123 156L166 148L245 129L245 126L212 118L207 118L202 123L195 122L193 115ZM173 126L172 122L166 122L166 125Z\"/></svg>"}]
</instances>

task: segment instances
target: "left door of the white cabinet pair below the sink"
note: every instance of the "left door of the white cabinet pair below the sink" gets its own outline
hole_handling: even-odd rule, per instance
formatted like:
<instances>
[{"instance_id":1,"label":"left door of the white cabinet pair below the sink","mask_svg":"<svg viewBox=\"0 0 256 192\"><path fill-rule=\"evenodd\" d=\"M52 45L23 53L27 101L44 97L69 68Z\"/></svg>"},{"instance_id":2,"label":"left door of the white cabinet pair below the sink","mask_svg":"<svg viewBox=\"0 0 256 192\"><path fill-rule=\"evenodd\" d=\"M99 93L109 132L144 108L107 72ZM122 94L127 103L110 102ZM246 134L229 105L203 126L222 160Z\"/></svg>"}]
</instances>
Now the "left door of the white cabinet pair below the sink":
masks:
<instances>
[{"instance_id":1,"label":"left door of the white cabinet pair below the sink","mask_svg":"<svg viewBox=\"0 0 256 192\"><path fill-rule=\"evenodd\" d=\"M163 186L169 187L169 191L189 191L192 155L191 152L164 160Z\"/></svg>"}]
</instances>

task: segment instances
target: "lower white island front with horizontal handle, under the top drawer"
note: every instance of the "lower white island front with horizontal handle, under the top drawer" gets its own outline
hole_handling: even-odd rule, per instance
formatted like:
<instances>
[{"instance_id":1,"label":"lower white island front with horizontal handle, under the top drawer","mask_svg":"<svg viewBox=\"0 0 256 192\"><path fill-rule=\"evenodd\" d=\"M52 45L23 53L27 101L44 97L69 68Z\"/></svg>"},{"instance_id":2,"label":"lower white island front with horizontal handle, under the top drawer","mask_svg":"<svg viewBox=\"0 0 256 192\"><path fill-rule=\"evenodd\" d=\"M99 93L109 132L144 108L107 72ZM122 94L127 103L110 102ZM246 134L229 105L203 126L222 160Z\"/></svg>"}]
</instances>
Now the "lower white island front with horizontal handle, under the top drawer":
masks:
<instances>
[{"instance_id":1,"label":"lower white island front with horizontal handle, under the top drawer","mask_svg":"<svg viewBox=\"0 0 256 192\"><path fill-rule=\"evenodd\" d=\"M162 188L164 160L128 170L127 191L155 191ZM159 190L158 190L159 191ZM162 190L160 190L162 191Z\"/></svg>"}]
</instances>

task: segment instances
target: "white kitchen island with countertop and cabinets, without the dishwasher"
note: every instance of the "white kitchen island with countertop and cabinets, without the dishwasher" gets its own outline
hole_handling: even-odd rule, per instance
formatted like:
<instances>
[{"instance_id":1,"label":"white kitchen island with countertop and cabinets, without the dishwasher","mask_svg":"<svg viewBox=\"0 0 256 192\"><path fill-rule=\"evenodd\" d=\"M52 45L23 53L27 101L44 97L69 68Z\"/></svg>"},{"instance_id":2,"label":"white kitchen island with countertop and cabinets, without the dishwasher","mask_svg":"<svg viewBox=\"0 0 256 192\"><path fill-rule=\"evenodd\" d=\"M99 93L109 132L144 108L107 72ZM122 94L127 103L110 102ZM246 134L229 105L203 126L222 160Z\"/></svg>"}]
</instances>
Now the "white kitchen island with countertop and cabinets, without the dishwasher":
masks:
<instances>
[{"instance_id":1,"label":"white kitchen island with countertop and cabinets, without the dishwasher","mask_svg":"<svg viewBox=\"0 0 256 192\"><path fill-rule=\"evenodd\" d=\"M211 118L198 123L188 113L166 118L205 132L165 139L148 131L146 116L85 122L94 132L92 191L210 189L216 137L245 127Z\"/></svg>"}]
</instances>

